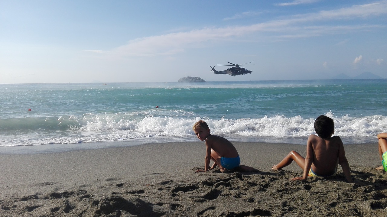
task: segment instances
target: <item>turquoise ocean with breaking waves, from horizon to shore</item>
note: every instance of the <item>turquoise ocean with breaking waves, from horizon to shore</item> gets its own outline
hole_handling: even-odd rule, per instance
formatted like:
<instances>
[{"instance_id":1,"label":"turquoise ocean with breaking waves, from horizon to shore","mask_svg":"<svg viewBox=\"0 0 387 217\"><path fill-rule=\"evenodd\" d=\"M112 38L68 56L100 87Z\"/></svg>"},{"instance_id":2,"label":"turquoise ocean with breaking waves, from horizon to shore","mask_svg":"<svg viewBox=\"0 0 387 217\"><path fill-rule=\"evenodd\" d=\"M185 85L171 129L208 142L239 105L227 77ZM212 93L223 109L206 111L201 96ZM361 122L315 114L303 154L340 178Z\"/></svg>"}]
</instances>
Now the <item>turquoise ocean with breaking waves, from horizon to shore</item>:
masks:
<instances>
[{"instance_id":1,"label":"turquoise ocean with breaking waves, from horizon to shore","mask_svg":"<svg viewBox=\"0 0 387 217\"><path fill-rule=\"evenodd\" d=\"M0 147L199 141L192 131L198 120L231 141L306 144L320 114L333 118L344 144L376 145L376 135L387 132L386 85L387 79L0 84Z\"/></svg>"}]
</instances>

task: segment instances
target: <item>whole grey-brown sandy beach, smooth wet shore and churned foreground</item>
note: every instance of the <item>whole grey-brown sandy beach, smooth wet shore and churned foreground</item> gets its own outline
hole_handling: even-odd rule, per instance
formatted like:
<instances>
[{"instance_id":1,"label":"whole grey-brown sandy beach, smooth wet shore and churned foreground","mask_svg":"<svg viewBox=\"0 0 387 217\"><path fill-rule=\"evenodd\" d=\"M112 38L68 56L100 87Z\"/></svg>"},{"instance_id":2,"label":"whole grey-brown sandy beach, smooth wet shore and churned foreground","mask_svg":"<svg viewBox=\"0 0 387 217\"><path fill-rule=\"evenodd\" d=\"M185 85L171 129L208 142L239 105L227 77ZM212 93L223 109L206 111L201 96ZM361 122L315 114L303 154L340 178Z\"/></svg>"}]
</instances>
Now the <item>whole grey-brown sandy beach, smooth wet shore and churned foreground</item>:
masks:
<instances>
[{"instance_id":1,"label":"whole grey-brown sandy beach, smooth wet shore and churned foreground","mask_svg":"<svg viewBox=\"0 0 387 217\"><path fill-rule=\"evenodd\" d=\"M0 154L0 216L380 216L387 174L377 144L345 145L352 177L289 181L295 164L272 171L305 145L233 142L255 173L195 173L204 142L145 144L31 154ZM280 148L280 149L279 149ZM7 147L1 147L2 150ZM17 149L17 147L12 147Z\"/></svg>"}]
</instances>

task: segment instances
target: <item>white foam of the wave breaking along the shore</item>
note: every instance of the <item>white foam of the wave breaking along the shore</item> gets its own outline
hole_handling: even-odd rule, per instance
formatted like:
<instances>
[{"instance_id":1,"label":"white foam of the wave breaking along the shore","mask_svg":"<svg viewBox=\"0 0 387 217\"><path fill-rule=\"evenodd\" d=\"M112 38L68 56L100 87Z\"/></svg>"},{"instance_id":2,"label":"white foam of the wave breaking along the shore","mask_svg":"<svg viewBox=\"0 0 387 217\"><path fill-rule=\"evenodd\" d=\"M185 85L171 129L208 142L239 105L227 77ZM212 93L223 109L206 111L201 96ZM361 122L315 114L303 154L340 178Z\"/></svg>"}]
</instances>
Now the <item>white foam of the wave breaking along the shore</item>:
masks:
<instances>
[{"instance_id":1,"label":"white foam of the wave breaking along the shore","mask_svg":"<svg viewBox=\"0 0 387 217\"><path fill-rule=\"evenodd\" d=\"M349 115L334 116L331 112L326 114L334 119L335 134L340 137L363 138L363 141L373 141L380 132L387 132L387 117L382 115L353 118ZM166 138L172 140L192 140L196 137L192 125L198 120L205 120L212 134L223 135L231 139L246 137L248 141L275 141L281 138L285 142L292 138L304 140L315 134L314 119L301 116L284 117L281 115L264 116L262 118L243 118L231 120L227 118L179 118L171 116L154 116L148 113L118 113L118 114L86 114L75 118L67 116L59 118L58 125L67 124L67 129L62 130L52 126L53 121L43 126L39 119L28 118L22 123L25 128L19 133L17 139L13 133L3 136L1 146L39 145L39 144L75 144L85 142L112 142L140 139L165 142ZM35 123L36 122L36 123ZM12 121L14 124L15 121ZM36 125L40 125L39 129ZM14 126L15 127L15 126ZM46 128L46 136L40 135L41 128Z\"/></svg>"}]
</instances>

